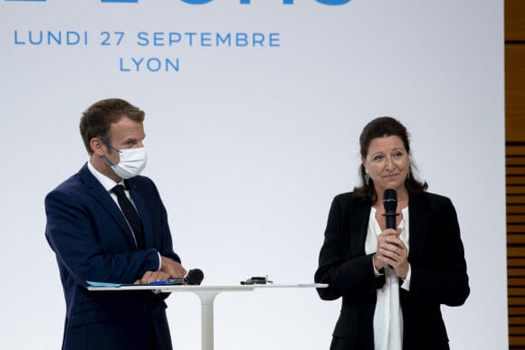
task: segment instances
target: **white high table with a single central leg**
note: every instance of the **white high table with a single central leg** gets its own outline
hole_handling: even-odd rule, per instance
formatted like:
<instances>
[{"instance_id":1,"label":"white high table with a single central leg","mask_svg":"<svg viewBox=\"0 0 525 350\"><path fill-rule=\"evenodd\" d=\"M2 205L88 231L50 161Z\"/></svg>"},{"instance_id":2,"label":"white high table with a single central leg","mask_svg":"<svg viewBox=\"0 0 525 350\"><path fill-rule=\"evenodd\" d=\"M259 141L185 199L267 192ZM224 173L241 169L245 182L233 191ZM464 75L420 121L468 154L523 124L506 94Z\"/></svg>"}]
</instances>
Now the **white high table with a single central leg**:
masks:
<instances>
[{"instance_id":1,"label":"white high table with a single central leg","mask_svg":"<svg viewBox=\"0 0 525 350\"><path fill-rule=\"evenodd\" d=\"M189 286L189 285L123 285L117 287L88 287L89 290L159 290L165 293L192 292L201 300L201 340L202 350L214 350L214 302L215 297L223 292L253 291L254 289L304 289L327 288L327 284L250 284L226 286Z\"/></svg>"}]
</instances>

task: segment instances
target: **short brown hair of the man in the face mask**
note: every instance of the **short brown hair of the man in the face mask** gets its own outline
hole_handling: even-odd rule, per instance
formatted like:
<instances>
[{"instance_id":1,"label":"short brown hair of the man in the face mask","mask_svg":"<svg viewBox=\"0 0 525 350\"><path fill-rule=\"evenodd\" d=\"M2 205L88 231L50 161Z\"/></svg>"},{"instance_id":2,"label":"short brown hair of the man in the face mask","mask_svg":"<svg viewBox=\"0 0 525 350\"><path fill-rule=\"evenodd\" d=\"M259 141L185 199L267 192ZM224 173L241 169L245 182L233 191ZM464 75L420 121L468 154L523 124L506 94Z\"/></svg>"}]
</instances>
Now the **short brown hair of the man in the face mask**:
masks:
<instances>
[{"instance_id":1,"label":"short brown hair of the man in the face mask","mask_svg":"<svg viewBox=\"0 0 525 350\"><path fill-rule=\"evenodd\" d=\"M111 124L118 122L122 117L142 123L144 111L124 99L102 99L82 113L81 137L90 156L93 154L91 138L100 137L108 141Z\"/></svg>"}]
</instances>

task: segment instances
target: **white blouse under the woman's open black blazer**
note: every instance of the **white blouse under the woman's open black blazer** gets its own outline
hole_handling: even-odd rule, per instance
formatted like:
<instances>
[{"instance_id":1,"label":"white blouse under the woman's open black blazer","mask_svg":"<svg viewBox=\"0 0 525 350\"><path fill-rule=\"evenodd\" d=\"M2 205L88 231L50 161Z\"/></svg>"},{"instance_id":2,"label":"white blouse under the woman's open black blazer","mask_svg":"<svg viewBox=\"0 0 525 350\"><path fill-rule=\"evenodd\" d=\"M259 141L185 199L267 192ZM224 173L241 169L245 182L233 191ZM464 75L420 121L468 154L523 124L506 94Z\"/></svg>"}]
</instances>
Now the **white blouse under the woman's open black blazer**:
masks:
<instances>
[{"instance_id":1,"label":"white blouse under the woman's open black blazer","mask_svg":"<svg viewBox=\"0 0 525 350\"><path fill-rule=\"evenodd\" d=\"M401 211L403 218L399 222L401 234L399 238L408 250L408 207ZM377 236L381 233L379 222L376 219L376 209L372 207L368 221L367 240L365 241L366 254L377 251ZM373 268L375 270L375 268ZM377 273L377 271L376 271ZM401 288L409 288L409 279L403 282ZM374 345L376 350L403 349L403 314L399 304L399 278L396 271L385 268L385 285L377 289L376 311L374 313Z\"/></svg>"}]
</instances>

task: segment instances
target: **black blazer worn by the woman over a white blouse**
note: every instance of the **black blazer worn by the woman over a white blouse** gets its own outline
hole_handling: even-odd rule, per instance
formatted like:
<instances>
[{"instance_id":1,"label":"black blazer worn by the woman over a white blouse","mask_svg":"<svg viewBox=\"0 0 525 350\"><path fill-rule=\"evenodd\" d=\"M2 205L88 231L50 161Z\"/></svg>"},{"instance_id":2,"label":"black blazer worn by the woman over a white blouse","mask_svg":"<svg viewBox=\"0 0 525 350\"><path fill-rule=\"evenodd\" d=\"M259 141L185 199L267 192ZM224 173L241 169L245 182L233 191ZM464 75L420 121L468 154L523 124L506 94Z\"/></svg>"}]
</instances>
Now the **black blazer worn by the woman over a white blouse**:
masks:
<instances>
[{"instance_id":1,"label":"black blazer worn by the woman over a white blouse","mask_svg":"<svg viewBox=\"0 0 525 350\"><path fill-rule=\"evenodd\" d=\"M450 199L437 194L409 196L410 291L400 289L403 349L449 349L441 304L460 306L470 293L463 242ZM385 278L376 277L373 254L365 255L371 204L352 193L337 195L329 211L320 250L317 283L320 298L342 297L331 350L373 350L373 317L377 291Z\"/></svg>"}]
</instances>

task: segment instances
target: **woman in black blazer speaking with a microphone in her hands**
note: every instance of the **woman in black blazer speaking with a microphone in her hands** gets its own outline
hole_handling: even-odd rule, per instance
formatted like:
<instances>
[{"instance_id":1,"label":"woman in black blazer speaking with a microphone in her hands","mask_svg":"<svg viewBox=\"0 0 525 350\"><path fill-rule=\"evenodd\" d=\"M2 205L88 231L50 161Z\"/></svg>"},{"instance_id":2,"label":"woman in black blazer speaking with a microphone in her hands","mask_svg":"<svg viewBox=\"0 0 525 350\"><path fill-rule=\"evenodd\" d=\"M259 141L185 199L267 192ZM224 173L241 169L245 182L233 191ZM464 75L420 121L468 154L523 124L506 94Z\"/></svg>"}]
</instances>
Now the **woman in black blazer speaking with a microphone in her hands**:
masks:
<instances>
[{"instance_id":1,"label":"woman in black blazer speaking with a microphone in her hands","mask_svg":"<svg viewBox=\"0 0 525 350\"><path fill-rule=\"evenodd\" d=\"M363 184L337 195L320 250L320 298L342 297L330 350L447 350L441 304L470 293L453 203L414 178L406 128L369 122L359 137ZM383 197L397 196L396 229Z\"/></svg>"}]
</instances>

